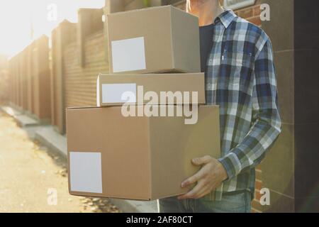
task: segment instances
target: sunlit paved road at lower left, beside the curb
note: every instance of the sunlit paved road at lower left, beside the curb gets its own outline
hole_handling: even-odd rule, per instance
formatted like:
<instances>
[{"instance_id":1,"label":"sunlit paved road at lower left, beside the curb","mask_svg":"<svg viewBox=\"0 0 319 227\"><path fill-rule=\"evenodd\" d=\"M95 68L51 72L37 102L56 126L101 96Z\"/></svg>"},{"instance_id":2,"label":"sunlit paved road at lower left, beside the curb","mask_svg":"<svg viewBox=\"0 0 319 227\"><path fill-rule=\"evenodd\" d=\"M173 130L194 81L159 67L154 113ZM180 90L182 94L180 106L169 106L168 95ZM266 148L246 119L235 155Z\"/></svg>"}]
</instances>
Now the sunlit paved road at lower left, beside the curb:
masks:
<instances>
[{"instance_id":1,"label":"sunlit paved road at lower left, beside the curb","mask_svg":"<svg viewBox=\"0 0 319 227\"><path fill-rule=\"evenodd\" d=\"M118 212L107 199L71 196L65 160L0 111L0 212Z\"/></svg>"}]
</instances>

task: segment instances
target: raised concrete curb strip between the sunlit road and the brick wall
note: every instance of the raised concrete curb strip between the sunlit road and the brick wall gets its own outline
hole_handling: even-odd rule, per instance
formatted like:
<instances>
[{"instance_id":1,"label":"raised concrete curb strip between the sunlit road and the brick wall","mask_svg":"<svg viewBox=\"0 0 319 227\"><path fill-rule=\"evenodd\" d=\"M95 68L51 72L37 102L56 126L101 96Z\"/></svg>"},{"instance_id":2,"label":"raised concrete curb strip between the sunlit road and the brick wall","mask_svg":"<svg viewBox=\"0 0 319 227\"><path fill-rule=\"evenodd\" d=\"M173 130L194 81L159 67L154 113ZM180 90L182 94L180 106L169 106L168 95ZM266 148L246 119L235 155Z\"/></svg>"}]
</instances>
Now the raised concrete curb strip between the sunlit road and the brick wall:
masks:
<instances>
[{"instance_id":1,"label":"raised concrete curb strip between the sunlit road and the brick wall","mask_svg":"<svg viewBox=\"0 0 319 227\"><path fill-rule=\"evenodd\" d=\"M2 111L9 114L17 121L18 125L27 131L30 138L38 140L47 150L63 157L67 161L67 138L65 135L57 133L53 126L41 125L33 118L12 108L11 106L1 106ZM157 201L135 201L126 199L109 199L123 212L132 213L156 213Z\"/></svg>"}]
</instances>

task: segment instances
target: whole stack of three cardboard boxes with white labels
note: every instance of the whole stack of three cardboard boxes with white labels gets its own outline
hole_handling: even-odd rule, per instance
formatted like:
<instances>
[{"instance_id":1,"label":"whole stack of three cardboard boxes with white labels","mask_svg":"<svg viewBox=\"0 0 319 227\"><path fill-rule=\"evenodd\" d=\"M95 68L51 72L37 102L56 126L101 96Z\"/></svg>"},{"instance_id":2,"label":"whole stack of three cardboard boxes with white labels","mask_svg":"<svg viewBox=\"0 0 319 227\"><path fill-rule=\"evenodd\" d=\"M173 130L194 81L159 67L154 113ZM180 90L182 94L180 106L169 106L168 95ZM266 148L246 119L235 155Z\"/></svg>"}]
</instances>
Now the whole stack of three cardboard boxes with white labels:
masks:
<instances>
[{"instance_id":1,"label":"whole stack of three cardboard boxes with white labels","mask_svg":"<svg viewBox=\"0 0 319 227\"><path fill-rule=\"evenodd\" d=\"M106 21L111 74L97 79L98 107L67 109L69 193L184 194L191 159L220 155L218 106L201 105L198 18L160 6Z\"/></svg>"}]
</instances>

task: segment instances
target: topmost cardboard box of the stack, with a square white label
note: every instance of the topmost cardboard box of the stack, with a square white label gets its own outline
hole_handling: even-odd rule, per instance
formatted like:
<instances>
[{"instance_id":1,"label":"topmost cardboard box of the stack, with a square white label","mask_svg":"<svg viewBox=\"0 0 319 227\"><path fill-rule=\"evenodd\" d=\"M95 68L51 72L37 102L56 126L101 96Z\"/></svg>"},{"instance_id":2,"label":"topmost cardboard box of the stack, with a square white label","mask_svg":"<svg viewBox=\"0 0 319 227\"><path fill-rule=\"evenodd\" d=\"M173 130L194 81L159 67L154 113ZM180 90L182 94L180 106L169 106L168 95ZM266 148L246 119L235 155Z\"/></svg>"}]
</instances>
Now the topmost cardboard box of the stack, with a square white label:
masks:
<instances>
[{"instance_id":1,"label":"topmost cardboard box of the stack, with a square white label","mask_svg":"<svg viewBox=\"0 0 319 227\"><path fill-rule=\"evenodd\" d=\"M118 72L201 72L198 18L173 6L107 15L109 68Z\"/></svg>"}]
</instances>

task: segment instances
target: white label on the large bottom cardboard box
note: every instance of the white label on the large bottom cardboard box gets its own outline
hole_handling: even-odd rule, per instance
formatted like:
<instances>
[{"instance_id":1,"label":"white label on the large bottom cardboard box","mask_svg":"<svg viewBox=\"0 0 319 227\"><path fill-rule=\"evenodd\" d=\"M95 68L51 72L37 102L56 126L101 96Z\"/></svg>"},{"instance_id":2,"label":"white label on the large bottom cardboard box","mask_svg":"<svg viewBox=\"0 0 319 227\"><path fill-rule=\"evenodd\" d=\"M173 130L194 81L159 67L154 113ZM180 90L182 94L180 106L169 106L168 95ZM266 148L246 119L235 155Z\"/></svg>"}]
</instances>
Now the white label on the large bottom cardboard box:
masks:
<instances>
[{"instance_id":1,"label":"white label on the large bottom cardboard box","mask_svg":"<svg viewBox=\"0 0 319 227\"><path fill-rule=\"evenodd\" d=\"M70 152L69 174L72 192L102 193L101 153Z\"/></svg>"}]
</instances>

